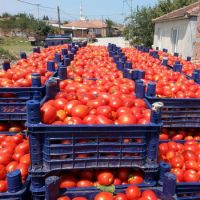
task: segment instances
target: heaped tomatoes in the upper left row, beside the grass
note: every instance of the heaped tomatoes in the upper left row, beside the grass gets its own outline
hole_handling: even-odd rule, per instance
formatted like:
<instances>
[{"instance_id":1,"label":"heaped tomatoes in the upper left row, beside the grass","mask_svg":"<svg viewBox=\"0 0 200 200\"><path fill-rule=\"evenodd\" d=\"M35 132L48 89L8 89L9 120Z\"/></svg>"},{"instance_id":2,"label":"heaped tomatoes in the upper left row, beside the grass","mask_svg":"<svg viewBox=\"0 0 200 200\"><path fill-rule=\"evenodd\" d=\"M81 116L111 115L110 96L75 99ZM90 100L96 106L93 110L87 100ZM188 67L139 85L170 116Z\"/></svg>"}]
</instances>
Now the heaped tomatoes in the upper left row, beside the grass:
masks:
<instances>
[{"instance_id":1,"label":"heaped tomatoes in the upper left row, beside the grass","mask_svg":"<svg viewBox=\"0 0 200 200\"><path fill-rule=\"evenodd\" d=\"M39 73L44 85L53 73L47 71L47 61L54 60L54 54L61 53L63 48L67 45L44 48L41 53L32 53L27 59L20 59L7 71L1 69L0 87L30 87L32 73Z\"/></svg>"}]
</instances>

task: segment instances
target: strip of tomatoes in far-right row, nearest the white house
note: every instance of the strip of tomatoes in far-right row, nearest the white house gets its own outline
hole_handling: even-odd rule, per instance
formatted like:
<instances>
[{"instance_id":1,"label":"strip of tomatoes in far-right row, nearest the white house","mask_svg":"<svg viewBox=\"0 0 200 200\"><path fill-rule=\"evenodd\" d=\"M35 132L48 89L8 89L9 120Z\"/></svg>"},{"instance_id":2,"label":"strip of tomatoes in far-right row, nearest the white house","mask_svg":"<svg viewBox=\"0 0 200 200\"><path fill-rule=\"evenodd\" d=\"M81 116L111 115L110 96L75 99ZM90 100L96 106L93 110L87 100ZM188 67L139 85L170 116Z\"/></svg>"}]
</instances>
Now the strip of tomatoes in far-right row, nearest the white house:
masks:
<instances>
[{"instance_id":1,"label":"strip of tomatoes in far-right row, nearest the white house","mask_svg":"<svg viewBox=\"0 0 200 200\"><path fill-rule=\"evenodd\" d=\"M191 61L184 60L181 57L173 56L170 53L159 51L158 55L159 55L160 60L162 60L163 57L167 57L168 64L172 67L174 66L176 61L179 61L182 64L182 72L189 76L192 76L195 69L200 69L200 64L192 63Z\"/></svg>"}]
</instances>

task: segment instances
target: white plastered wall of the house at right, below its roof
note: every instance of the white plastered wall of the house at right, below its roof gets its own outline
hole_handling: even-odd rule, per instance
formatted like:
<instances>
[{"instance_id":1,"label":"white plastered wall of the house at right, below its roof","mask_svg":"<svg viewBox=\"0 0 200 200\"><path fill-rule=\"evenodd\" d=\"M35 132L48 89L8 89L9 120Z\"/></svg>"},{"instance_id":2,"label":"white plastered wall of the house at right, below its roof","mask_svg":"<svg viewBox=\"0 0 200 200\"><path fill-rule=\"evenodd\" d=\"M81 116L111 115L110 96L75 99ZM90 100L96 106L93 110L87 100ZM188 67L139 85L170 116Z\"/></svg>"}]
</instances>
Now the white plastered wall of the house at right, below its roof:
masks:
<instances>
[{"instance_id":1,"label":"white plastered wall of the house at right, below its roof","mask_svg":"<svg viewBox=\"0 0 200 200\"><path fill-rule=\"evenodd\" d=\"M153 47L167 48L173 52L172 29L178 30L177 50L183 58L193 56L195 51L197 17L155 24ZM160 29L160 40L158 39Z\"/></svg>"}]
</instances>

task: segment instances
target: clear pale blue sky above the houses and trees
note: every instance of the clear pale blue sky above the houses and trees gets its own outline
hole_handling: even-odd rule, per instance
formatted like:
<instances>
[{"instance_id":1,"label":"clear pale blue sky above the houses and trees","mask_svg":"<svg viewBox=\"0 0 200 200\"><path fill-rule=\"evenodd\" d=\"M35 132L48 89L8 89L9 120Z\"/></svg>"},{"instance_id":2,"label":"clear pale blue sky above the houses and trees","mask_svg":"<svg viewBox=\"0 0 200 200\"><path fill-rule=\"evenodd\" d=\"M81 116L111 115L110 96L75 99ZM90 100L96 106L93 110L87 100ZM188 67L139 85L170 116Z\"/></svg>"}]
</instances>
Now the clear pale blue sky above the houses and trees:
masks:
<instances>
[{"instance_id":1,"label":"clear pale blue sky above the houses and trees","mask_svg":"<svg viewBox=\"0 0 200 200\"><path fill-rule=\"evenodd\" d=\"M31 13L36 18L47 15L50 19L57 19L57 6L60 7L61 21L78 20L80 17L81 0L21 0L36 5L28 5L18 0L0 0L0 14ZM123 19L130 13L131 0L82 0L83 15L88 19L112 19L123 23ZM154 5L157 0L133 0L133 10L138 6ZM39 15L38 15L39 14Z\"/></svg>"}]
</instances>

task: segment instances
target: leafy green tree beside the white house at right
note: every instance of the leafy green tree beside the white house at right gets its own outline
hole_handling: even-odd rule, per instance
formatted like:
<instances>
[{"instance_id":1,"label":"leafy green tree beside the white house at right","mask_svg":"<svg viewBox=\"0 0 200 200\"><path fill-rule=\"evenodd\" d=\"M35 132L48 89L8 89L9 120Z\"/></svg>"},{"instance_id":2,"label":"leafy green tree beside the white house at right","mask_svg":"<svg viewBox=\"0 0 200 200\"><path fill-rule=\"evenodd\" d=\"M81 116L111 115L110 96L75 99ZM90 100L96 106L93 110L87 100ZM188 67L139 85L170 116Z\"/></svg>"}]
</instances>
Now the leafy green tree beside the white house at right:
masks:
<instances>
[{"instance_id":1,"label":"leafy green tree beside the white house at right","mask_svg":"<svg viewBox=\"0 0 200 200\"><path fill-rule=\"evenodd\" d=\"M124 36L133 44L150 47L153 44L153 19L198 0L159 0L153 7L137 7L133 16L125 19Z\"/></svg>"}]
</instances>

